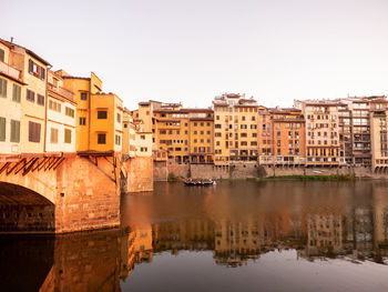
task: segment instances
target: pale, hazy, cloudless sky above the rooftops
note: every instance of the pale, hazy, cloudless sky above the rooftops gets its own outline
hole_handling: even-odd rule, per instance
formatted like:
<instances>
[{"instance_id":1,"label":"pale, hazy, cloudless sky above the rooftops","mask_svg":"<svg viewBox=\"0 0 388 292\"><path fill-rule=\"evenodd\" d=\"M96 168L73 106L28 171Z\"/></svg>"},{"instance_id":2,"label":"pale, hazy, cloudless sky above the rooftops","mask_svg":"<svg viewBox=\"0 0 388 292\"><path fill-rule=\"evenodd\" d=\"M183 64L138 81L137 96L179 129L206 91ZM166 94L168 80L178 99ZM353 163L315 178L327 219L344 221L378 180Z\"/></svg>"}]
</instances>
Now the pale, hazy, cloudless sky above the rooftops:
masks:
<instances>
[{"instance_id":1,"label":"pale, hazy, cloudless sky above the rooftops","mask_svg":"<svg viewBox=\"0 0 388 292\"><path fill-rule=\"evenodd\" d=\"M388 94L387 0L0 0L0 38L126 108Z\"/></svg>"}]
</instances>

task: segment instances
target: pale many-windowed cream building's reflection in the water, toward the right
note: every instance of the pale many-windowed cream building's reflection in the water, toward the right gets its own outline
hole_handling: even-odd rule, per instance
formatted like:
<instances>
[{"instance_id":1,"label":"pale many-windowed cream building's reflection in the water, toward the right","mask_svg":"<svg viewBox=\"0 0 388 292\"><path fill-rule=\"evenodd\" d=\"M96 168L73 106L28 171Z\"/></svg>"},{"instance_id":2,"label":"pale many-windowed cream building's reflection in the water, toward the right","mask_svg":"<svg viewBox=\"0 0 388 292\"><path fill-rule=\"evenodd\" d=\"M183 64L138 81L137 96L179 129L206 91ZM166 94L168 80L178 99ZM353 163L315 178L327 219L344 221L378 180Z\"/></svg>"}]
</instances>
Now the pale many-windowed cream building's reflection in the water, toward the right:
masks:
<instances>
[{"instance_id":1,"label":"pale many-windowed cream building's reflection in the water, toward the right","mask_svg":"<svg viewBox=\"0 0 388 292\"><path fill-rule=\"evenodd\" d=\"M340 214L308 214L306 255L334 255L343 252Z\"/></svg>"}]
</instances>

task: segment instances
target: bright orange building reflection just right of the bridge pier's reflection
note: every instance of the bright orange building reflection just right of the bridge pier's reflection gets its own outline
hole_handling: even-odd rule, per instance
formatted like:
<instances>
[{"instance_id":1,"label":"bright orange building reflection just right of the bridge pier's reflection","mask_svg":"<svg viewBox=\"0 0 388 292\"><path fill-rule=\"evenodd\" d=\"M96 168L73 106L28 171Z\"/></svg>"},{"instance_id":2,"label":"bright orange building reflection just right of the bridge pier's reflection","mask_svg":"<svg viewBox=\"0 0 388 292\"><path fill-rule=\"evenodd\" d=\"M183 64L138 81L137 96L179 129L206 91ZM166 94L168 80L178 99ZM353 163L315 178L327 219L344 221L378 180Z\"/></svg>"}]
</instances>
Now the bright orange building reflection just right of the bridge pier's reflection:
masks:
<instances>
[{"instance_id":1,"label":"bright orange building reflection just right of the bridge pier's reflection","mask_svg":"<svg viewBox=\"0 0 388 292\"><path fill-rule=\"evenodd\" d=\"M121 239L120 278L126 279L135 263L151 262L153 256L151 224L131 230L126 228Z\"/></svg>"}]
</instances>

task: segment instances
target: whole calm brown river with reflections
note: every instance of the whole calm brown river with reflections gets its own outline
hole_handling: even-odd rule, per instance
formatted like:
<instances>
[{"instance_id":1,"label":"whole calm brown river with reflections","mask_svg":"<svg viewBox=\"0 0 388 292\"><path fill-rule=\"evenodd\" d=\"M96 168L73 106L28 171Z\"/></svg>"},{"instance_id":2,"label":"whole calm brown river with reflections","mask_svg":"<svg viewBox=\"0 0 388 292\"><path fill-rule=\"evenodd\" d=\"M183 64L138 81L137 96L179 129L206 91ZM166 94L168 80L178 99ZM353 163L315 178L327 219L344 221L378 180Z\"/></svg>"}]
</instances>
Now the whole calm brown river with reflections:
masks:
<instances>
[{"instance_id":1,"label":"whole calm brown river with reflections","mask_svg":"<svg viewBox=\"0 0 388 292\"><path fill-rule=\"evenodd\" d=\"M156 183L120 230L0 246L3 291L388 291L388 182Z\"/></svg>"}]
</instances>

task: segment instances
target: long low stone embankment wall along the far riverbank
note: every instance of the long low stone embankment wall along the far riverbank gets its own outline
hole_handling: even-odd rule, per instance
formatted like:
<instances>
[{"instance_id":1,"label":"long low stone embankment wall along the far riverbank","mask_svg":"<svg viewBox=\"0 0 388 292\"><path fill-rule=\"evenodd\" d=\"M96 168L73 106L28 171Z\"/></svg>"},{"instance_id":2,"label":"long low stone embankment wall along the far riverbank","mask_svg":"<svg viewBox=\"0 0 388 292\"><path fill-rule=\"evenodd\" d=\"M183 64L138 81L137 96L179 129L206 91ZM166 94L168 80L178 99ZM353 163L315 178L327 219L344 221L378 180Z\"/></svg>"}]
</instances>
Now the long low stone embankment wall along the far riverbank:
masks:
<instances>
[{"instance_id":1,"label":"long low stone embankment wall along the far riverbank","mask_svg":"<svg viewBox=\"0 0 388 292\"><path fill-rule=\"evenodd\" d=\"M154 173L162 173L159 181L166 181L169 177L193 179L247 179L287 175L353 175L355 178L388 179L388 173L375 172L367 167L290 167L290 165L259 165L256 162L234 163L228 167L213 164L178 164L164 163L163 168L154 164Z\"/></svg>"}]
</instances>

